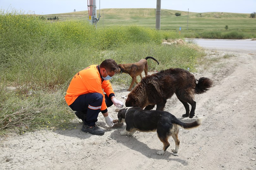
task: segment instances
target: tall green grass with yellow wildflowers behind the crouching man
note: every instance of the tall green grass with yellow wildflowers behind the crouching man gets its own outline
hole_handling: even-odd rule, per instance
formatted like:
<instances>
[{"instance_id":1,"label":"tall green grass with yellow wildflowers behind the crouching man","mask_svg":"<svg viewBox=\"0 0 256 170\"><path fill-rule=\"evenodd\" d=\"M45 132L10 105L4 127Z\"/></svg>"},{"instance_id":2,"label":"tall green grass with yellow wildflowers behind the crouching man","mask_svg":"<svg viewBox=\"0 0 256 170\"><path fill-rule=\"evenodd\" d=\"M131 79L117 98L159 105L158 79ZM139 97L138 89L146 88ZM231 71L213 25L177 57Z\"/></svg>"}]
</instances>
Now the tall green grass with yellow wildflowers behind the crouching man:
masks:
<instances>
[{"instance_id":1,"label":"tall green grass with yellow wildflowers behind the crouching man","mask_svg":"<svg viewBox=\"0 0 256 170\"><path fill-rule=\"evenodd\" d=\"M82 20L48 22L34 15L0 13L0 134L66 128L75 118L64 100L71 78L105 59L119 64L152 56L160 64L149 59L149 71L196 71L202 51L190 44L161 46L164 39L179 38L175 31L138 25L95 29ZM111 82L128 87L131 78L119 74Z\"/></svg>"}]
</instances>

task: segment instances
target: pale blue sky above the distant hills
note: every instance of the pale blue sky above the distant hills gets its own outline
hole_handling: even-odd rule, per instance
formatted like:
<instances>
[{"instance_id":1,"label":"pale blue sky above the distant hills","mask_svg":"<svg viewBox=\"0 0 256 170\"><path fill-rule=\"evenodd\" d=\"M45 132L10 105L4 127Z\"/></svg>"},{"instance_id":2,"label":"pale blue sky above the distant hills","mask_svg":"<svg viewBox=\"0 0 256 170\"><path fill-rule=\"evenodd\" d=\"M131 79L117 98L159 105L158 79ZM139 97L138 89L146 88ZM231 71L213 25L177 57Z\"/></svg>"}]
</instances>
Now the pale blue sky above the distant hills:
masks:
<instances>
[{"instance_id":1,"label":"pale blue sky above the distant hills","mask_svg":"<svg viewBox=\"0 0 256 170\"><path fill-rule=\"evenodd\" d=\"M60 14L87 11L88 0L0 0L0 9L28 14ZM156 0L96 0L96 9L156 8ZM189 12L256 12L256 0L161 0L161 9Z\"/></svg>"}]
</instances>

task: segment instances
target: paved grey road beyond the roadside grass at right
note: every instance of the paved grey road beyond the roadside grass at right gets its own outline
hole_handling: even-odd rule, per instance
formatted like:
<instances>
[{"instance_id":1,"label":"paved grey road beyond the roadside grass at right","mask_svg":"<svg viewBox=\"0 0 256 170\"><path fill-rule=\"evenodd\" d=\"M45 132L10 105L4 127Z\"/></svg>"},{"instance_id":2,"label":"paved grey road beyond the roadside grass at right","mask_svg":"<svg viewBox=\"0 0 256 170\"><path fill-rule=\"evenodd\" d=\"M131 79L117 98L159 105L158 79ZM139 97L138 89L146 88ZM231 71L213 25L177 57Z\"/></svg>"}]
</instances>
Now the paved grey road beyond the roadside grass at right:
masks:
<instances>
[{"instance_id":1,"label":"paved grey road beyond the roadside grass at right","mask_svg":"<svg viewBox=\"0 0 256 170\"><path fill-rule=\"evenodd\" d=\"M186 39L192 40L199 46L207 49L223 49L237 51L252 51L256 52L256 41L251 39L246 40L223 40L223 39Z\"/></svg>"}]
</instances>

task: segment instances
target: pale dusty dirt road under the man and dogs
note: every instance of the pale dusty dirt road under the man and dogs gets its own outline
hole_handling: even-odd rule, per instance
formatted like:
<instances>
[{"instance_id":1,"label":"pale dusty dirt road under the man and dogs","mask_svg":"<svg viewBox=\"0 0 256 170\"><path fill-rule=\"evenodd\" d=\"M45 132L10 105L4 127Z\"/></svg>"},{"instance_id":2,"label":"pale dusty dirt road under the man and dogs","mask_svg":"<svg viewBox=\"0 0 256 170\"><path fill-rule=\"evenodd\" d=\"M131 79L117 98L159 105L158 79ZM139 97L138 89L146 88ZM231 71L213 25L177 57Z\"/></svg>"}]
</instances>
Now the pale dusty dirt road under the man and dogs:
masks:
<instances>
[{"instance_id":1,"label":"pale dusty dirt road under the man and dogs","mask_svg":"<svg viewBox=\"0 0 256 170\"><path fill-rule=\"evenodd\" d=\"M156 132L136 132L121 136L120 128L110 128L103 116L97 125L106 129L103 136L80 131L74 122L68 130L37 131L11 135L0 141L0 169L252 169L256 168L256 53L255 51L207 51L210 58L221 59L207 70L193 73L214 81L207 93L195 96L196 117L204 117L195 129L181 129L178 156L172 155L174 140L164 155ZM128 77L128 76L127 76ZM123 102L128 87L114 87ZM117 119L116 107L110 114ZM184 106L173 96L165 107L181 121Z\"/></svg>"}]
</instances>

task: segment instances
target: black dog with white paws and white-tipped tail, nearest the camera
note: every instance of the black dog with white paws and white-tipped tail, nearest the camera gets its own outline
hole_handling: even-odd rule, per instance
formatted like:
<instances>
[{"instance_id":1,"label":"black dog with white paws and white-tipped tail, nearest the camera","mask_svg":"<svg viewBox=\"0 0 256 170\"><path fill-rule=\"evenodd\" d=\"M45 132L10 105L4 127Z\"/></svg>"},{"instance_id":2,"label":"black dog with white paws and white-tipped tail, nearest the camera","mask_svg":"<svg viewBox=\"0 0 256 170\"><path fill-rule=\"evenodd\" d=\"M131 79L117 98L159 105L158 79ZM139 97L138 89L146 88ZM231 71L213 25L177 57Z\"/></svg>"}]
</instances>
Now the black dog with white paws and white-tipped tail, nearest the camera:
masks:
<instances>
[{"instance_id":1,"label":"black dog with white paws and white-tipped tail, nearest the camera","mask_svg":"<svg viewBox=\"0 0 256 170\"><path fill-rule=\"evenodd\" d=\"M175 153L178 152L180 145L178 138L179 126L189 129L202 124L202 118L198 118L192 123L184 123L167 111L143 110L140 107L126 107L125 109L119 110L117 116L119 123L126 123L125 130L120 132L121 135L126 134L132 136L136 131L156 131L158 138L163 143L163 149L156 152L158 155L163 155L170 146L168 142L170 136L175 141L175 149L172 149L172 151Z\"/></svg>"}]
</instances>

